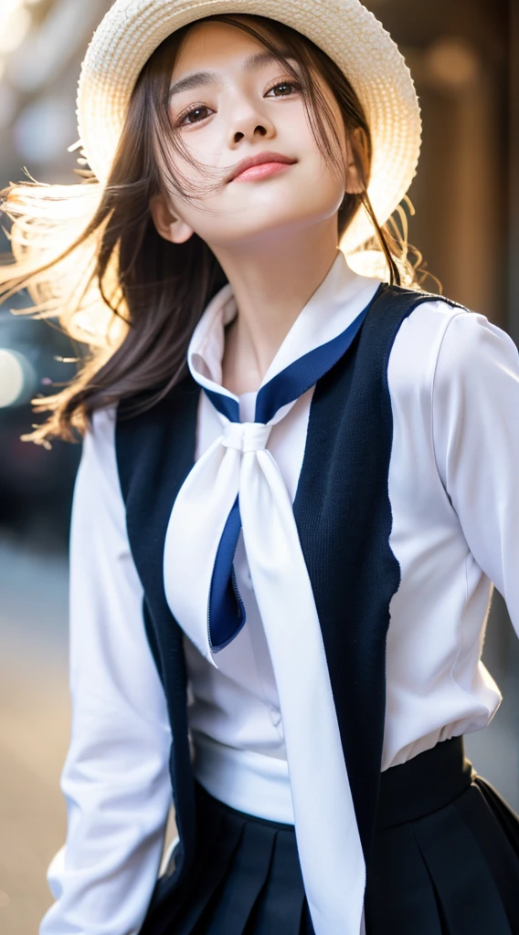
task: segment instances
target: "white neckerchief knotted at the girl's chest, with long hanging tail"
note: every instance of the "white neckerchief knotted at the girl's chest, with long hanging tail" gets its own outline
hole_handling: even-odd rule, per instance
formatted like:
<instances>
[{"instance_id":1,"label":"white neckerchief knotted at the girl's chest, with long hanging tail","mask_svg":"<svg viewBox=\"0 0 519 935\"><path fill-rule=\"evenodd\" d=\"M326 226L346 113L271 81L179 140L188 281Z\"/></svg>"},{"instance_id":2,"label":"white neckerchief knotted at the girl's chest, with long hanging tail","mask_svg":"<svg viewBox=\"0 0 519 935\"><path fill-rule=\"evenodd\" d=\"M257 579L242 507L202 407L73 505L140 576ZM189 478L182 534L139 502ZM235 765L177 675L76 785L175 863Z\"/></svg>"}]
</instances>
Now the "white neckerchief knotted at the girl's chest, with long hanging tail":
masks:
<instances>
[{"instance_id":1,"label":"white neckerchief knotted at the girl's chest, with long hanging tail","mask_svg":"<svg viewBox=\"0 0 519 935\"><path fill-rule=\"evenodd\" d=\"M305 352L344 332L378 285L356 276L339 253L284 338L261 386ZM223 326L236 310L231 287L225 286L195 328L188 363L201 386L238 402L221 385ZM222 435L196 461L171 512L164 555L166 597L189 639L218 668L218 653L209 640L209 588L223 527L238 495L252 586L280 698L297 847L313 926L316 935L359 935L366 869L321 626L292 501L267 450L272 425L293 405L282 406L267 424L230 422L216 410Z\"/></svg>"}]
</instances>

